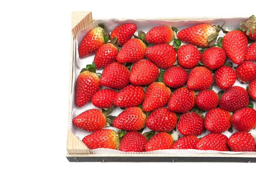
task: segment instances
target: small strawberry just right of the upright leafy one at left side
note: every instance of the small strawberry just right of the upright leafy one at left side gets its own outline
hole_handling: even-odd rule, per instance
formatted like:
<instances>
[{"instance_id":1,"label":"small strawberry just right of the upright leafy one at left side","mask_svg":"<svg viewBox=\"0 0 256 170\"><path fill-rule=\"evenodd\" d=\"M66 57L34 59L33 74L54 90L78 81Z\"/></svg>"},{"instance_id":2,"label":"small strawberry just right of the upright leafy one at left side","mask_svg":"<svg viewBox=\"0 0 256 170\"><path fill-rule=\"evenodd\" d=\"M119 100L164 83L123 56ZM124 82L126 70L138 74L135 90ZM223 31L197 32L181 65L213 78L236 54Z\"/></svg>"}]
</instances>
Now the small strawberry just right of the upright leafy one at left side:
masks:
<instances>
[{"instance_id":1,"label":"small strawberry just right of the upright leafy one at left side","mask_svg":"<svg viewBox=\"0 0 256 170\"><path fill-rule=\"evenodd\" d=\"M112 89L101 89L93 95L92 104L97 108L110 108L114 105L116 95L117 92Z\"/></svg>"}]
</instances>

